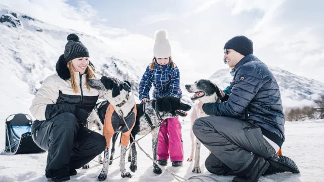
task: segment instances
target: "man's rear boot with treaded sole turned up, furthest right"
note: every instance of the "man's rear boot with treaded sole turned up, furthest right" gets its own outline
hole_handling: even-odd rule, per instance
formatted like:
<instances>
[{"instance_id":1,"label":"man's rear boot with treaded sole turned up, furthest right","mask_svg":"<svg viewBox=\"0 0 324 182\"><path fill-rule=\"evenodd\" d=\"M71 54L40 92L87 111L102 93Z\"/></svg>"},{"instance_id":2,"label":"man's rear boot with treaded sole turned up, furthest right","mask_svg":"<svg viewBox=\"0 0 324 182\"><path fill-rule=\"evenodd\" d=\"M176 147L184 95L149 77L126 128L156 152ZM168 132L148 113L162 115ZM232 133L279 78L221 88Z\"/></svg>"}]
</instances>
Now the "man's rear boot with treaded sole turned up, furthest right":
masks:
<instances>
[{"instance_id":1,"label":"man's rear boot with treaded sole turned up, furthest right","mask_svg":"<svg viewBox=\"0 0 324 182\"><path fill-rule=\"evenodd\" d=\"M265 171L264 175L275 174L280 172L299 173L299 169L296 163L289 157L273 154L271 157L267 158L266 160L269 161L270 166Z\"/></svg>"}]
</instances>

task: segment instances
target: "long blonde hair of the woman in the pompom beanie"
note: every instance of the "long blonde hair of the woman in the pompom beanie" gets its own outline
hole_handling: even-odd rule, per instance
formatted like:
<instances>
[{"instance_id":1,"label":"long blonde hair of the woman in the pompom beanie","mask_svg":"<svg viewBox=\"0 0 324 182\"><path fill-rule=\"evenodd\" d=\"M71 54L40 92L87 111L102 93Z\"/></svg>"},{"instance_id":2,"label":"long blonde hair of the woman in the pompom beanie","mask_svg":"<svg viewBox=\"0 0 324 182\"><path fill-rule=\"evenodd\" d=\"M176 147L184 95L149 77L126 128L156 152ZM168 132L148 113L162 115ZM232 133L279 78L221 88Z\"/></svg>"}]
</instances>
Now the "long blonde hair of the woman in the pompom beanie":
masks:
<instances>
[{"instance_id":1,"label":"long blonde hair of the woman in the pompom beanie","mask_svg":"<svg viewBox=\"0 0 324 182\"><path fill-rule=\"evenodd\" d=\"M72 61L67 62L67 68L70 71L70 75L71 75L70 80L71 80L71 85L72 85L73 92L76 94L76 93L78 93L78 89L77 89L77 84L75 82L75 69L74 69L74 67L72 65ZM86 76L86 86L87 86L88 90L90 91L90 86L88 85L88 80L91 79L91 78L96 78L94 67L89 64L87 66L87 68L86 68L85 73L87 74L87 76Z\"/></svg>"}]
</instances>

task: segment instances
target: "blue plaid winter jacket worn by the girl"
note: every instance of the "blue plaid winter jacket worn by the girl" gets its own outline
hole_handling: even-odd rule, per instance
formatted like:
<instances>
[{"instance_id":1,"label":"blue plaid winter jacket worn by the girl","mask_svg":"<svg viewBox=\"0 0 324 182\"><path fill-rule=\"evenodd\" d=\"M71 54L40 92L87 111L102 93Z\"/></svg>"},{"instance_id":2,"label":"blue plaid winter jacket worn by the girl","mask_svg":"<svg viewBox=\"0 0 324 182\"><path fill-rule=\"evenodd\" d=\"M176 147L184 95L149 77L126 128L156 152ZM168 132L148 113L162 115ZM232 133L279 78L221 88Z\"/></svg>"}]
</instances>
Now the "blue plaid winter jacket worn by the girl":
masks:
<instances>
[{"instance_id":1,"label":"blue plaid winter jacket worn by the girl","mask_svg":"<svg viewBox=\"0 0 324 182\"><path fill-rule=\"evenodd\" d=\"M152 70L149 66L143 74L140 82L140 100L150 99L149 91L152 83L154 85L153 98L165 96L177 96L182 98L182 91L180 89L180 72L178 67L173 69L170 62L164 66L154 62L155 69Z\"/></svg>"}]
</instances>

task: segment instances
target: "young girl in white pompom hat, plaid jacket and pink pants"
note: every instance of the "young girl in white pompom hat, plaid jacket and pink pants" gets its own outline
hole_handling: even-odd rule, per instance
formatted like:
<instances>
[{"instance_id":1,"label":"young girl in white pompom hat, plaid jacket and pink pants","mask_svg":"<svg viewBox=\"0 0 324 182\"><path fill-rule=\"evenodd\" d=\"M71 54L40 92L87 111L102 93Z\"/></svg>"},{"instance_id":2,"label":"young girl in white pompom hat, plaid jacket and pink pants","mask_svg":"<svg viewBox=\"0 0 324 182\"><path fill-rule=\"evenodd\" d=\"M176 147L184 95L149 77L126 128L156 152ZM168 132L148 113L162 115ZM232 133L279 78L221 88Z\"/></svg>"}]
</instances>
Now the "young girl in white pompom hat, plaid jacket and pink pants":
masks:
<instances>
[{"instance_id":1,"label":"young girl in white pompom hat, plaid jacket and pink pants","mask_svg":"<svg viewBox=\"0 0 324 182\"><path fill-rule=\"evenodd\" d=\"M152 63L146 68L139 84L140 100L142 102L149 100L149 90L152 83L154 85L154 99L165 96L181 98L180 72L172 60L171 45L165 30L159 30L156 33L153 53ZM172 166L182 165L183 143L181 140L181 124L178 117L164 120L158 133L158 164L167 165L169 155Z\"/></svg>"}]
</instances>

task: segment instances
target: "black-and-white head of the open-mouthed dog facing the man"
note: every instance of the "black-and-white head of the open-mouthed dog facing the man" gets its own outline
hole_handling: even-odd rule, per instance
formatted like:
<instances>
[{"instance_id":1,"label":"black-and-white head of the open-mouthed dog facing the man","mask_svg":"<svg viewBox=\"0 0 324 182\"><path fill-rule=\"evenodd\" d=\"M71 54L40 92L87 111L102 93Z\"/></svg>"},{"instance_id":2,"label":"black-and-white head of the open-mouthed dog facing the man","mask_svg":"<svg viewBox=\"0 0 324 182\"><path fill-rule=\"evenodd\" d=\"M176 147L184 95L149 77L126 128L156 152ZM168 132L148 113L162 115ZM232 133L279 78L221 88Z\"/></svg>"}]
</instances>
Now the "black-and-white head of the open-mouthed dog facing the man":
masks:
<instances>
[{"instance_id":1,"label":"black-and-white head of the open-mouthed dog facing the man","mask_svg":"<svg viewBox=\"0 0 324 182\"><path fill-rule=\"evenodd\" d=\"M197 80L194 82L194 84L186 84L185 88L189 93L195 93L190 98L192 101L208 101L210 100L209 98L222 98L219 88L213 82L207 79Z\"/></svg>"}]
</instances>

